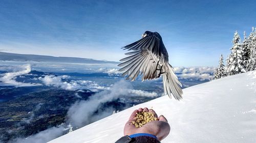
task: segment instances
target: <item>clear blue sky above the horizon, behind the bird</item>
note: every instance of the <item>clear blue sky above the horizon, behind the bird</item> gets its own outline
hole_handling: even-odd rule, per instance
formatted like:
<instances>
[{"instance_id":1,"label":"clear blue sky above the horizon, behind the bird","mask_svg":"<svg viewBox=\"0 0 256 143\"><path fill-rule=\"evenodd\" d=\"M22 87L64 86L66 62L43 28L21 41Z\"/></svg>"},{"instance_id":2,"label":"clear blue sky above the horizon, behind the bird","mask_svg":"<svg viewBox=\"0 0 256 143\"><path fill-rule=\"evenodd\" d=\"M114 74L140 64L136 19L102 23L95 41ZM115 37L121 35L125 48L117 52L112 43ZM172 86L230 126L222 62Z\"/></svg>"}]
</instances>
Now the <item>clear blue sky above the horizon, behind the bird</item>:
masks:
<instances>
[{"instance_id":1,"label":"clear blue sky above the horizon, behind the bird","mask_svg":"<svg viewBox=\"0 0 256 143\"><path fill-rule=\"evenodd\" d=\"M158 32L173 66L217 66L256 26L256 1L1 1L0 50L118 61Z\"/></svg>"}]
</instances>

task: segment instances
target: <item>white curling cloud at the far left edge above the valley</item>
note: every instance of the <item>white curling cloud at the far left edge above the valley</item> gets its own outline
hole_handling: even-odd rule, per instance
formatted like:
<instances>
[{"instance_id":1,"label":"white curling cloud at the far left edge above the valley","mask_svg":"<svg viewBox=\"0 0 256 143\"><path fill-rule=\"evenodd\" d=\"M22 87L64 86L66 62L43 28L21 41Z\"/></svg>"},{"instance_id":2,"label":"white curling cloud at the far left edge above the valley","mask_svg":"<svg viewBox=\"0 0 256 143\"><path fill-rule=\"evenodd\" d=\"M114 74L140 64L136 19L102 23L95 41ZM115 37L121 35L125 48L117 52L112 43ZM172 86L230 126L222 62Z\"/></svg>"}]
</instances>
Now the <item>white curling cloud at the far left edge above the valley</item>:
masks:
<instances>
[{"instance_id":1,"label":"white curling cloud at the far left edge above the valley","mask_svg":"<svg viewBox=\"0 0 256 143\"><path fill-rule=\"evenodd\" d=\"M30 64L25 64L22 66L9 66L9 67L0 67L0 70L8 71L7 73L0 74L0 81L2 81L3 85L14 85L16 87L28 87L41 85L38 83L24 83L17 82L15 78L20 75L27 74L31 71Z\"/></svg>"}]
</instances>

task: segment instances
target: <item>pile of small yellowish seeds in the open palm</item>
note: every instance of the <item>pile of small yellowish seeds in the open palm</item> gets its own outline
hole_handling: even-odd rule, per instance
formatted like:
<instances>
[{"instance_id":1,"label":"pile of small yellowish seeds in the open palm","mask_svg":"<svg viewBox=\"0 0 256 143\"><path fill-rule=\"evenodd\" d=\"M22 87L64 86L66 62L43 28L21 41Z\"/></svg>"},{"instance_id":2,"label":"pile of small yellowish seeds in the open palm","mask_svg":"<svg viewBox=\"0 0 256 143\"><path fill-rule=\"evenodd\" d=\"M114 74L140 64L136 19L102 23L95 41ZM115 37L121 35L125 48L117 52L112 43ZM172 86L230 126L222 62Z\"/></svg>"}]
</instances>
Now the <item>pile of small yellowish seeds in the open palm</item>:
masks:
<instances>
[{"instance_id":1,"label":"pile of small yellowish seeds in the open palm","mask_svg":"<svg viewBox=\"0 0 256 143\"><path fill-rule=\"evenodd\" d=\"M134 118L136 121L133 121L132 124L135 125L136 128L142 127L148 122L158 120L152 112L142 111L136 112L137 116Z\"/></svg>"}]
</instances>

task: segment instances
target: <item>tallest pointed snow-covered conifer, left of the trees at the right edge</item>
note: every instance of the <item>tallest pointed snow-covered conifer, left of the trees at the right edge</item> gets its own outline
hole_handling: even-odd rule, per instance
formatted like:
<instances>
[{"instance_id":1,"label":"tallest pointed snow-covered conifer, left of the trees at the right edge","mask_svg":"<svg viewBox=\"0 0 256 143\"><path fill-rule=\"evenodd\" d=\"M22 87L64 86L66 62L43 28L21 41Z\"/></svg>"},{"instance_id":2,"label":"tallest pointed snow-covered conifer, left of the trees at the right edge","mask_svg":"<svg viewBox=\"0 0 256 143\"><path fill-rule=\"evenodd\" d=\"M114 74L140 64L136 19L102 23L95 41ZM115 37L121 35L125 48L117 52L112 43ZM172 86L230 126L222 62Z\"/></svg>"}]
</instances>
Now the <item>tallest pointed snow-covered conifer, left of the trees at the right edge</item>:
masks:
<instances>
[{"instance_id":1,"label":"tallest pointed snow-covered conifer, left of the trees at the right edge","mask_svg":"<svg viewBox=\"0 0 256 143\"><path fill-rule=\"evenodd\" d=\"M233 46L230 48L231 53L227 58L227 74L234 75L246 72L243 67L243 50L240 42L241 38L236 31L233 38Z\"/></svg>"}]
</instances>

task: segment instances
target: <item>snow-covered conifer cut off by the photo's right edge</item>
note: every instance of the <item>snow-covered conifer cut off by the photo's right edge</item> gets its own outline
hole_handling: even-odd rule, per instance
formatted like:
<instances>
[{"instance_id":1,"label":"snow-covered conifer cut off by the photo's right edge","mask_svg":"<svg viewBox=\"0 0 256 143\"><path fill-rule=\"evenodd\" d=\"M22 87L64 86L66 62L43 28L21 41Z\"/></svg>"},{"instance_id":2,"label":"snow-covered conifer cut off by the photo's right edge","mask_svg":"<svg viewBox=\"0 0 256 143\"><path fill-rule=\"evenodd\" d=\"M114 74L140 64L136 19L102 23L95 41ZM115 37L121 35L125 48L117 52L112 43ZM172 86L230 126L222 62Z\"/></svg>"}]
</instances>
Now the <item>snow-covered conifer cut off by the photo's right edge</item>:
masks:
<instances>
[{"instance_id":1,"label":"snow-covered conifer cut off by the photo's right edge","mask_svg":"<svg viewBox=\"0 0 256 143\"><path fill-rule=\"evenodd\" d=\"M248 61L248 71L256 70L256 29L252 27L248 39L248 47L250 49L250 58Z\"/></svg>"}]
</instances>

